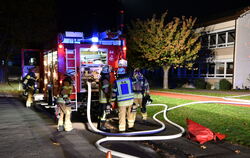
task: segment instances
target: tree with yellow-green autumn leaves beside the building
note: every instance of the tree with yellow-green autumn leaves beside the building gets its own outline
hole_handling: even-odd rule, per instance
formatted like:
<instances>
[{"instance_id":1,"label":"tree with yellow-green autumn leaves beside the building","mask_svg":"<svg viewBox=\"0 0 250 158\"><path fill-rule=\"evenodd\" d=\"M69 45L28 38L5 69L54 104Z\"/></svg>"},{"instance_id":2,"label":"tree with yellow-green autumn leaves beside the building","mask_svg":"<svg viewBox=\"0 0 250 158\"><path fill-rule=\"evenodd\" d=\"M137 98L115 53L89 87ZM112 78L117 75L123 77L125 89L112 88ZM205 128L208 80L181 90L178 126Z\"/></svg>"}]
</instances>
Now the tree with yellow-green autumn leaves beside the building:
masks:
<instances>
[{"instance_id":1,"label":"tree with yellow-green autumn leaves beside the building","mask_svg":"<svg viewBox=\"0 0 250 158\"><path fill-rule=\"evenodd\" d=\"M128 28L128 58L136 64L158 65L163 68L163 88L168 88L168 72L171 66L192 67L201 48L200 34L194 31L196 18L173 18L165 22L167 12L160 19L132 21ZM135 59L136 58L136 59ZM143 61L147 62L143 62Z\"/></svg>"}]
</instances>

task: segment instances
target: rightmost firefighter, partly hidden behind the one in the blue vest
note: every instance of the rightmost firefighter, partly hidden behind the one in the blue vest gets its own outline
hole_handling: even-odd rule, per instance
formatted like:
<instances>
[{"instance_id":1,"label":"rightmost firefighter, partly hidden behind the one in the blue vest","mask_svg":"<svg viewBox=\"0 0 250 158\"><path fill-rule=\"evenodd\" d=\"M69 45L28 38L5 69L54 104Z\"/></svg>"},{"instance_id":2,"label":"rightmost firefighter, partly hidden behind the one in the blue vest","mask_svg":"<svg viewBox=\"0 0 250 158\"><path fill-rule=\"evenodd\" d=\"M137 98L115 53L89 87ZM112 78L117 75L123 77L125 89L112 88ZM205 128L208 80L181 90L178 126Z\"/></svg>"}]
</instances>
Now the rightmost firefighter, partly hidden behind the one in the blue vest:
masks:
<instances>
[{"instance_id":1,"label":"rightmost firefighter, partly hidden behind the one in the blue vest","mask_svg":"<svg viewBox=\"0 0 250 158\"><path fill-rule=\"evenodd\" d=\"M133 91L134 91L134 103L140 108L142 120L147 120L147 110L145 99L150 99L149 96L149 84L147 79L140 72L139 68L136 68L133 73ZM134 113L134 119L136 119L136 113Z\"/></svg>"}]
</instances>

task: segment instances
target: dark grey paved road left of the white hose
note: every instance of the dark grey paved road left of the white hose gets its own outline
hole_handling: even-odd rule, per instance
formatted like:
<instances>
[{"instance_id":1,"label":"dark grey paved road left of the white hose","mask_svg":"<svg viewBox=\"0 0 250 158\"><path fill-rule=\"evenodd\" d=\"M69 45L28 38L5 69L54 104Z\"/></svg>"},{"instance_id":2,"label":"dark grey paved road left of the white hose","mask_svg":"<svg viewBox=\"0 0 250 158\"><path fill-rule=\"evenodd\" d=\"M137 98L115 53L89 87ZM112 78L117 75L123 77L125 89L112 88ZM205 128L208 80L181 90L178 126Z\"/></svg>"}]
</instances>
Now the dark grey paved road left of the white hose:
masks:
<instances>
[{"instance_id":1,"label":"dark grey paved road left of the white hose","mask_svg":"<svg viewBox=\"0 0 250 158\"><path fill-rule=\"evenodd\" d=\"M74 123L71 133L56 133L56 123L15 98L0 97L1 158L104 158L93 145L98 136ZM100 137L100 136L99 136ZM53 142L56 139L58 143Z\"/></svg>"}]
</instances>

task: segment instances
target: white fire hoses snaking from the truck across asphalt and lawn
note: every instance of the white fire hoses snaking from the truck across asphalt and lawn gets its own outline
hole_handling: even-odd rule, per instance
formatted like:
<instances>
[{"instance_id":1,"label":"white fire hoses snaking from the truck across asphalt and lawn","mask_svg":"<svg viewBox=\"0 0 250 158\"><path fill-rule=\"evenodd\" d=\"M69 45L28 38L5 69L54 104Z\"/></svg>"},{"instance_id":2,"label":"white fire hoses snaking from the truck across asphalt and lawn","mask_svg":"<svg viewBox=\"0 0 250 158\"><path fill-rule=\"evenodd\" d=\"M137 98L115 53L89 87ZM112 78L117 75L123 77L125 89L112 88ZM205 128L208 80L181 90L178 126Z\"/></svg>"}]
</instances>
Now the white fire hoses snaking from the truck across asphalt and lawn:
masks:
<instances>
[{"instance_id":1,"label":"white fire hoses snaking from the truck across asphalt and lawn","mask_svg":"<svg viewBox=\"0 0 250 158\"><path fill-rule=\"evenodd\" d=\"M236 103L236 102L227 102L227 101L199 101L199 102L191 102L191 103L186 103L186 104L181 104L172 108L168 108L168 106L166 104L150 104L147 106L163 106L165 107L164 110L157 112L156 114L153 115L153 119L158 122L159 124L161 124L161 128L156 129L156 130L147 130L147 131L139 131L139 132L129 132L129 133L107 133L104 131L100 131L98 130L92 123L91 121L91 117L90 117L90 108L91 108L91 84L89 82L87 82L88 85L88 100L87 100L87 119L88 119L88 125L90 126L90 128L92 129L93 132L99 133L99 134L103 134L103 135L108 135L105 138L99 139L95 145L96 147L101 150L102 152L107 153L108 151L112 152L112 155L118 156L118 157L124 157L124 158L138 158L136 156L133 155L129 155L129 154L125 154L125 153L121 153L118 151L113 151L110 149L107 149L103 146L101 146L101 143L103 142L107 142L107 141L147 141L147 140L169 140L169 139L175 139L175 138L179 138L183 135L183 133L185 132L185 129L183 127L181 127L180 125L170 121L167 118L167 112L171 111L173 109L176 108L180 108L183 106L187 106L187 105L193 105L193 104L204 104L204 103L226 103L226 104L241 104L241 105L250 105L250 101L247 103ZM163 114L164 120L167 121L169 124L175 126L176 128L180 129L180 132L177 134L173 134L173 135L165 135L165 136L140 136L140 137L114 137L114 136L128 136L128 135L145 135L145 134L152 134L152 133L158 133L160 131L163 131L165 129L165 124L163 122L161 122L160 120L158 120L156 118L157 115L159 114Z\"/></svg>"}]
</instances>

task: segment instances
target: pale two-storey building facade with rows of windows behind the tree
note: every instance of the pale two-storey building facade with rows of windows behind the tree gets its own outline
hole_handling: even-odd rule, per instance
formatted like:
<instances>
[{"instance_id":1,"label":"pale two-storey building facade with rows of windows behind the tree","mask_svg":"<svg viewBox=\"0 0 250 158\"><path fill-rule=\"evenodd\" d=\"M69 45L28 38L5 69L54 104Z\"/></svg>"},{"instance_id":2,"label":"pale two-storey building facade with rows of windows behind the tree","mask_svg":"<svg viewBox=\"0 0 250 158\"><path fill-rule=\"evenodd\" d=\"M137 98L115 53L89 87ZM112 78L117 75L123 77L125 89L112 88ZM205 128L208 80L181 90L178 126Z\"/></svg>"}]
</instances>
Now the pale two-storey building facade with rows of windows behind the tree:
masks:
<instances>
[{"instance_id":1,"label":"pale two-storey building facade with rows of windows behind the tree","mask_svg":"<svg viewBox=\"0 0 250 158\"><path fill-rule=\"evenodd\" d=\"M204 78L217 89L221 79L227 79L233 89L250 88L250 9L208 22L196 29L202 34L202 51L210 53L197 61L192 69L175 68L177 78Z\"/></svg>"}]
</instances>

